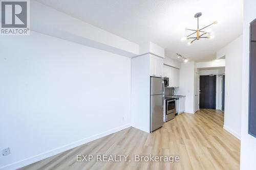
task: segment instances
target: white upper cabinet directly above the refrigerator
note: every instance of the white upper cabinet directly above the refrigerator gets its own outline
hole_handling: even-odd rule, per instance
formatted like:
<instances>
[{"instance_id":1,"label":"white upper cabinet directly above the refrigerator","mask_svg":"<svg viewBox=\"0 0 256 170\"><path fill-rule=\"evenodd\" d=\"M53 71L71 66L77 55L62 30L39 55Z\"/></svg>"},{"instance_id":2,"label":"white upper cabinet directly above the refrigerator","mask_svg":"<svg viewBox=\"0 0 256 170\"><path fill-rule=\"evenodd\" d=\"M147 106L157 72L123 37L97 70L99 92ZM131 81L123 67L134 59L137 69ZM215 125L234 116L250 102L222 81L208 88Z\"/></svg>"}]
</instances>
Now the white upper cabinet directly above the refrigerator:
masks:
<instances>
[{"instance_id":1,"label":"white upper cabinet directly above the refrigerator","mask_svg":"<svg viewBox=\"0 0 256 170\"><path fill-rule=\"evenodd\" d=\"M150 75L163 77L163 58L150 55Z\"/></svg>"}]
</instances>

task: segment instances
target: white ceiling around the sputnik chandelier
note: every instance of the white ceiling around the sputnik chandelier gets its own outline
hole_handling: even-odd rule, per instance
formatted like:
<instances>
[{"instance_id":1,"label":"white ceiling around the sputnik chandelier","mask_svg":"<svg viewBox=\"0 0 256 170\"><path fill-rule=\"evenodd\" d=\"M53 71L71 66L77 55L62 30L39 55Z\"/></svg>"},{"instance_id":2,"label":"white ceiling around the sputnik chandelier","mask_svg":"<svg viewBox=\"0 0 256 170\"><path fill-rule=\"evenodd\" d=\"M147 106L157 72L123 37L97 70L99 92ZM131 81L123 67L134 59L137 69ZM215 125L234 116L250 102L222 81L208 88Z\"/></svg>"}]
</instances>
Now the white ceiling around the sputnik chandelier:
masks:
<instances>
[{"instance_id":1,"label":"white ceiling around the sputnik chandelier","mask_svg":"<svg viewBox=\"0 0 256 170\"><path fill-rule=\"evenodd\" d=\"M242 0L38 0L138 44L152 41L165 48L166 56L179 53L190 61L210 61L216 52L242 34ZM194 14L202 12L199 27L218 20L214 39L187 45L184 28L197 28Z\"/></svg>"}]
</instances>

